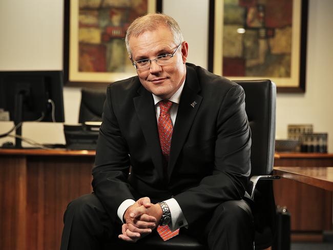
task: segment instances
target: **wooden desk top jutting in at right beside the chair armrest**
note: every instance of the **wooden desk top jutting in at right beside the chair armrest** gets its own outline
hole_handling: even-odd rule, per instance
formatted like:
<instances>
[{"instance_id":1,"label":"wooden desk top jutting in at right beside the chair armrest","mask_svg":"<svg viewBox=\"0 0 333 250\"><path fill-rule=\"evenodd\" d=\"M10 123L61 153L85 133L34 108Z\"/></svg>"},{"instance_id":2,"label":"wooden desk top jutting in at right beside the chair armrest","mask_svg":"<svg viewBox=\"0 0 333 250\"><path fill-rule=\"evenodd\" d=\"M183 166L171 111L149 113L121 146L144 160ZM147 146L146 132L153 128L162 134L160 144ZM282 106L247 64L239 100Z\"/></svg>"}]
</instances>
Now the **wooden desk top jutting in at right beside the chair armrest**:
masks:
<instances>
[{"instance_id":1,"label":"wooden desk top jutting in at right beside the chair armrest","mask_svg":"<svg viewBox=\"0 0 333 250\"><path fill-rule=\"evenodd\" d=\"M287 167L275 166L274 174L283 178L299 181L317 188L333 191L333 167Z\"/></svg>"}]
</instances>

